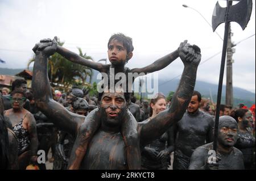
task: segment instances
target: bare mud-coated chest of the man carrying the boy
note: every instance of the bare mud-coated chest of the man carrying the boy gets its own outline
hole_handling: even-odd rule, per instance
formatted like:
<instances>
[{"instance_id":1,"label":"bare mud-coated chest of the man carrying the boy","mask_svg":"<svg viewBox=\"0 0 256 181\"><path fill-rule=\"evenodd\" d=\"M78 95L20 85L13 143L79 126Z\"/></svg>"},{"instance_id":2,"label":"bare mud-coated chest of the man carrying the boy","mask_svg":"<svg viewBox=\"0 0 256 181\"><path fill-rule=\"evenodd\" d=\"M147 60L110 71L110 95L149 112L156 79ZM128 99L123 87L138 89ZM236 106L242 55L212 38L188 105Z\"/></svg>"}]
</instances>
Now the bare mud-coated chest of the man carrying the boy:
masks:
<instances>
[{"instance_id":1,"label":"bare mud-coated chest of the man carrying the boy","mask_svg":"<svg viewBox=\"0 0 256 181\"><path fill-rule=\"evenodd\" d=\"M90 141L80 169L127 169L125 142L121 133L98 131Z\"/></svg>"}]
</instances>

